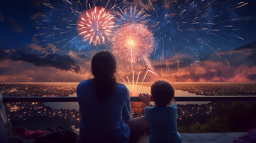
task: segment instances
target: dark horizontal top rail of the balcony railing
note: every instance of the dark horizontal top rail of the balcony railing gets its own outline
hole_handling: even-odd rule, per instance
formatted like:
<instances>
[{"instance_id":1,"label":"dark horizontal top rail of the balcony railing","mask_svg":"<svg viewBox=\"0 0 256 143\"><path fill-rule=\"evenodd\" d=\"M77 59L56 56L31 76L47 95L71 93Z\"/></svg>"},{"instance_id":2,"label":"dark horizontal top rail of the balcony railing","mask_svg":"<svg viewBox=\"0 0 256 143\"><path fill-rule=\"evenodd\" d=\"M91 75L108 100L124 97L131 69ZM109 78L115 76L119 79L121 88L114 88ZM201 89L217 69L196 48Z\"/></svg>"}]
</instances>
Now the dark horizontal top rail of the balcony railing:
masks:
<instances>
[{"instance_id":1,"label":"dark horizontal top rail of the balcony railing","mask_svg":"<svg viewBox=\"0 0 256 143\"><path fill-rule=\"evenodd\" d=\"M140 102L138 97L130 97ZM175 101L256 101L256 96L176 96ZM77 97L4 97L3 102L77 102Z\"/></svg>"}]
</instances>

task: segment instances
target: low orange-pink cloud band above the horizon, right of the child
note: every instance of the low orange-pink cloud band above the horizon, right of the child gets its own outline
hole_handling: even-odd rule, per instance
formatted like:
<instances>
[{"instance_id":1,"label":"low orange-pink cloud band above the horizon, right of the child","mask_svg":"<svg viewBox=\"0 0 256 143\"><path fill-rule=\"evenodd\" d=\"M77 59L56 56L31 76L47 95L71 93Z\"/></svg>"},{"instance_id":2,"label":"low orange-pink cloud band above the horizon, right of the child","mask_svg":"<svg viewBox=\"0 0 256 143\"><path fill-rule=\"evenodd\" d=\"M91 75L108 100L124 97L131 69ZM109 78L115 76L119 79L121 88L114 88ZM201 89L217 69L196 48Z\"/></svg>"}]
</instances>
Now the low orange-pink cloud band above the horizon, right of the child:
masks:
<instances>
[{"instance_id":1,"label":"low orange-pink cloud band above the horizon, right of the child","mask_svg":"<svg viewBox=\"0 0 256 143\"><path fill-rule=\"evenodd\" d=\"M163 70L160 79L170 82L255 82L256 66L249 68L243 64L229 68L224 62L204 61L191 67Z\"/></svg>"}]
</instances>

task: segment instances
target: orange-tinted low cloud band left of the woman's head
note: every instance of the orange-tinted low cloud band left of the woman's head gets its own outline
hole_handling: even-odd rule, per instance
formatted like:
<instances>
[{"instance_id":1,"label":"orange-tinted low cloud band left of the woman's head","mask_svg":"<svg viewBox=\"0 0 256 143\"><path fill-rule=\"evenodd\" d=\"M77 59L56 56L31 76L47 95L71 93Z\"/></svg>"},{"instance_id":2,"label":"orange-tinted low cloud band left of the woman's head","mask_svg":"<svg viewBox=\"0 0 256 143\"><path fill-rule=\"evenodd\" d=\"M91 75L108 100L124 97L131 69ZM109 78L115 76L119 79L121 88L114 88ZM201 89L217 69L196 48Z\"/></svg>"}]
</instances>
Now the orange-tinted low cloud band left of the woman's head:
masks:
<instances>
[{"instance_id":1,"label":"orange-tinted low cloud band left of the woman's head","mask_svg":"<svg viewBox=\"0 0 256 143\"><path fill-rule=\"evenodd\" d=\"M60 70L54 67L34 66L23 61L0 62L1 82L80 82L88 79L88 71L82 68L83 74Z\"/></svg>"}]
</instances>

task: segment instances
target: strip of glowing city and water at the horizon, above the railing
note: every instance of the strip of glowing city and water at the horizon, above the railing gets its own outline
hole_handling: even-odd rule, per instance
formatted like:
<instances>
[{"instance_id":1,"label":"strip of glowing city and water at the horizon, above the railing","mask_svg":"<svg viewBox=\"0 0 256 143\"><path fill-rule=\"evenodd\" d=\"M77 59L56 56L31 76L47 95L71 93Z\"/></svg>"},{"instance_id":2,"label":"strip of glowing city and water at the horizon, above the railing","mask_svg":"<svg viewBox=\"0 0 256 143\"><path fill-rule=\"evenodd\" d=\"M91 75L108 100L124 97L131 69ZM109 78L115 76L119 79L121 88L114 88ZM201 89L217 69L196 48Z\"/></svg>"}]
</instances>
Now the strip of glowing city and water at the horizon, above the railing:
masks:
<instances>
[{"instance_id":1,"label":"strip of glowing city and water at the horizon, above the railing","mask_svg":"<svg viewBox=\"0 0 256 143\"><path fill-rule=\"evenodd\" d=\"M60 95L67 96L76 92L79 82L16 82L0 83L0 91L10 96L36 95ZM138 83L137 85L124 84L130 91L131 96L137 96L138 93L150 93L150 87L153 82ZM188 91L186 94L196 95L255 95L256 82L173 82L171 83L175 90ZM60 91L58 91L60 90ZM47 92L45 92L47 91ZM23 95L25 94L25 95ZM179 93L184 95L185 93ZM189 95L191 96L191 95Z\"/></svg>"}]
</instances>

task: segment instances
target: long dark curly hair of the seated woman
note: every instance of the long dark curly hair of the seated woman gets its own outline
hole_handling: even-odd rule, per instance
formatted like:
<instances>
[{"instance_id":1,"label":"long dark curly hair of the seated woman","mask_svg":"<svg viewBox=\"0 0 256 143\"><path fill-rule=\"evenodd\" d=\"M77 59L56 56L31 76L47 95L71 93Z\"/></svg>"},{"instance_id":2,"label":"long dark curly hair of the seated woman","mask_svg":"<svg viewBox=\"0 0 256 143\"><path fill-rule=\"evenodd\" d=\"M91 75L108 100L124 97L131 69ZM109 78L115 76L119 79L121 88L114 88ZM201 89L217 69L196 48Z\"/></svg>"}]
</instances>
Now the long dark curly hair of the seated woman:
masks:
<instances>
[{"instance_id":1,"label":"long dark curly hair of the seated woman","mask_svg":"<svg viewBox=\"0 0 256 143\"><path fill-rule=\"evenodd\" d=\"M89 78L94 76L92 79L93 88L100 101L108 99L111 92L115 90L117 85L116 71L116 59L109 51L100 51L92 57Z\"/></svg>"}]
</instances>

